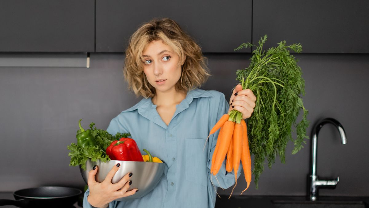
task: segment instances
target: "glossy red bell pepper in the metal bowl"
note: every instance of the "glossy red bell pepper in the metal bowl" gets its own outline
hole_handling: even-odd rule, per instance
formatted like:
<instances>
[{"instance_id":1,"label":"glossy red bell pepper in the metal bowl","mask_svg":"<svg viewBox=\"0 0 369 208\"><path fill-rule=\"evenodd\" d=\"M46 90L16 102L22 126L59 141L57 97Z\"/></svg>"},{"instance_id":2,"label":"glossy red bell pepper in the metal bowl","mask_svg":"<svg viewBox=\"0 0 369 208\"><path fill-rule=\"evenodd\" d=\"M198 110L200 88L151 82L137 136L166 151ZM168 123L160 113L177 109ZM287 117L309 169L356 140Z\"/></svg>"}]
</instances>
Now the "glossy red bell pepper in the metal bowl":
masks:
<instances>
[{"instance_id":1,"label":"glossy red bell pepper in the metal bowl","mask_svg":"<svg viewBox=\"0 0 369 208\"><path fill-rule=\"evenodd\" d=\"M144 161L137 143L131 138L120 138L119 141L111 142L106 148L106 154L111 160Z\"/></svg>"}]
</instances>

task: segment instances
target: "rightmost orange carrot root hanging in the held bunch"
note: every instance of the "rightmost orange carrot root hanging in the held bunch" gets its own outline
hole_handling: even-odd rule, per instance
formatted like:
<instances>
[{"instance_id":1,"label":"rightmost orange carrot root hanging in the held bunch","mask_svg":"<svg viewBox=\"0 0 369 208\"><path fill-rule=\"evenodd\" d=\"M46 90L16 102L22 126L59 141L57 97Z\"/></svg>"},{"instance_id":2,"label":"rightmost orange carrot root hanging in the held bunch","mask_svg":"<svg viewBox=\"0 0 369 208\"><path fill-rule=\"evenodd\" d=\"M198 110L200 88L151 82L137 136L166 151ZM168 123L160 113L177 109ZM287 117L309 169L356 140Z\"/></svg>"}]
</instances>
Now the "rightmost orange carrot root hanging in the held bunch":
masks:
<instances>
[{"instance_id":1,"label":"rightmost orange carrot root hanging in the held bunch","mask_svg":"<svg viewBox=\"0 0 369 208\"><path fill-rule=\"evenodd\" d=\"M247 136L247 125L245 120L241 120L242 127L244 129L244 133L242 136L242 153L241 153L241 162L242 167L244 169L245 180L247 182L247 187L245 190L241 192L241 194L249 188L251 182L251 156L250 156L250 148L249 148L249 140Z\"/></svg>"}]
</instances>

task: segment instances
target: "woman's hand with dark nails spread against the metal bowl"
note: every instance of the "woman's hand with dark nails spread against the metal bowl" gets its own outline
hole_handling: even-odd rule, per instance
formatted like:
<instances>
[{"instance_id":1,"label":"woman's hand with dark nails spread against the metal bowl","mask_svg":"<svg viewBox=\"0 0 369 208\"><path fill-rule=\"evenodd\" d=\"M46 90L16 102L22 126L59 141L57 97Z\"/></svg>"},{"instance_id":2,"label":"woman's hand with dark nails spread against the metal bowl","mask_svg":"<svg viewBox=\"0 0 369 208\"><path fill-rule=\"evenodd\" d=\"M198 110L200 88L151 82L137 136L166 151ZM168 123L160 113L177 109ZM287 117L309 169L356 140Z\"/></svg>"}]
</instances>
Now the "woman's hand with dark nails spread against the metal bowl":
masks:
<instances>
[{"instance_id":1,"label":"woman's hand with dark nails spread against the metal bowl","mask_svg":"<svg viewBox=\"0 0 369 208\"><path fill-rule=\"evenodd\" d=\"M118 171L120 164L114 165L111 168L110 172L106 175L105 180L101 183L95 180L95 175L97 173L97 166L89 172L89 178L87 184L90 189L90 194L87 197L87 201L93 207L108 207L109 202L114 201L115 199L128 197L135 194L138 189L132 189L131 191L127 191L130 188L130 178L132 176L131 173L127 173L119 182L112 184L111 179L114 174Z\"/></svg>"}]
</instances>

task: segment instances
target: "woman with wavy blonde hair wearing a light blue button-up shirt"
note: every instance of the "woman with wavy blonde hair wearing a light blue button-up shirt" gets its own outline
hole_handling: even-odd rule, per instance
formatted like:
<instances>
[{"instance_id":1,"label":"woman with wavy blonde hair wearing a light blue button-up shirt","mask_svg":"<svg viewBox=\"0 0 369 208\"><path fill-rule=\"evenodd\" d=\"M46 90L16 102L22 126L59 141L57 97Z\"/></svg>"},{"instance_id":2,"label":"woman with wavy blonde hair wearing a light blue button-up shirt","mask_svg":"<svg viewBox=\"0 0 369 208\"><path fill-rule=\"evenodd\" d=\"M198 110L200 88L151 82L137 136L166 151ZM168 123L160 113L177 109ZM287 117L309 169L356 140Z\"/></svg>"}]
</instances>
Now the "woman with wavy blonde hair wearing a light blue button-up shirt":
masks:
<instances>
[{"instance_id":1,"label":"woman with wavy blonde hair wearing a light blue button-up shirt","mask_svg":"<svg viewBox=\"0 0 369 208\"><path fill-rule=\"evenodd\" d=\"M114 201L139 191L130 189L127 173L117 184L111 178L94 180L97 168L89 172L89 189L83 207L209 207L215 206L217 187L235 183L234 172L210 174L211 157L218 132L210 129L220 117L235 109L249 118L256 97L237 85L227 103L223 93L201 90L209 76L200 47L170 19L143 24L131 37L126 51L124 76L136 95L144 98L115 117L107 128L110 134L130 132L138 147L148 148L166 162L165 175L149 194L131 201ZM242 167L240 165L240 167ZM239 168L237 176L240 175ZM122 188L123 187L123 188Z\"/></svg>"}]
</instances>

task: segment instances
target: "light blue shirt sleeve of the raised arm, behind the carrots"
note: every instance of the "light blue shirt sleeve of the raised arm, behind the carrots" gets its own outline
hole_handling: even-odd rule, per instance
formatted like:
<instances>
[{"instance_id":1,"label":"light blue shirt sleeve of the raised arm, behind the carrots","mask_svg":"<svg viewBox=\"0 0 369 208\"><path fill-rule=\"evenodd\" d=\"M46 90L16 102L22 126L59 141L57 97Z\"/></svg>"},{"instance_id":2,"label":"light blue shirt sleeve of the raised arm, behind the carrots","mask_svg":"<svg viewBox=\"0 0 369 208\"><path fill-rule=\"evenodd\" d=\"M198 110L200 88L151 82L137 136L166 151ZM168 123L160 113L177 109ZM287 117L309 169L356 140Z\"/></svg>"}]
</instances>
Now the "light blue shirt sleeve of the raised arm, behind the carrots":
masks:
<instances>
[{"instance_id":1,"label":"light blue shirt sleeve of the raised arm, behind the carrots","mask_svg":"<svg viewBox=\"0 0 369 208\"><path fill-rule=\"evenodd\" d=\"M216 117L214 118L210 117L211 119L211 121L209 122L211 124L210 129L213 128L213 126L220 120L220 118L224 114L228 113L228 110L229 110L229 104L227 100L225 100L225 96L223 93L221 93L219 103L217 104L218 104L218 110L216 112ZM210 108L210 109L216 109L216 108ZM217 144L218 134L219 134L219 130L216 131L214 134L210 135L209 137L208 155L207 155L208 177L216 187L226 189L226 188L231 187L233 184L235 184L234 170L232 170L232 172L227 172L227 170L225 170L225 163L226 163L227 157L224 159L219 172L215 176L210 173L211 160L214 154L215 145ZM242 164L240 162L239 168L237 171L237 178L241 174L241 170L242 170Z\"/></svg>"}]
</instances>

